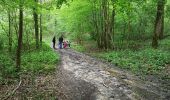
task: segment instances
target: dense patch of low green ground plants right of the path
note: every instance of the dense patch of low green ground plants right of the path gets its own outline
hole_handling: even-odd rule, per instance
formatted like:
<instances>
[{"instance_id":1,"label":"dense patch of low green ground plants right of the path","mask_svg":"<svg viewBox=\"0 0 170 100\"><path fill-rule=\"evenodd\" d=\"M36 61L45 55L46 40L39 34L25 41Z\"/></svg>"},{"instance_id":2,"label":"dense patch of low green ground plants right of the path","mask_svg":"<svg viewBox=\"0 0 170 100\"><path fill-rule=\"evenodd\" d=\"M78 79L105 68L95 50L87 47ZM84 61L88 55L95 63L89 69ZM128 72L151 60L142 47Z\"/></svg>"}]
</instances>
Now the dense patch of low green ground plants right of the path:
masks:
<instances>
[{"instance_id":1,"label":"dense patch of low green ground plants right of the path","mask_svg":"<svg viewBox=\"0 0 170 100\"><path fill-rule=\"evenodd\" d=\"M170 53L163 50L151 48L140 51L112 51L98 55L118 67L129 69L134 73L156 74L165 68L165 64L170 63Z\"/></svg>"}]
</instances>

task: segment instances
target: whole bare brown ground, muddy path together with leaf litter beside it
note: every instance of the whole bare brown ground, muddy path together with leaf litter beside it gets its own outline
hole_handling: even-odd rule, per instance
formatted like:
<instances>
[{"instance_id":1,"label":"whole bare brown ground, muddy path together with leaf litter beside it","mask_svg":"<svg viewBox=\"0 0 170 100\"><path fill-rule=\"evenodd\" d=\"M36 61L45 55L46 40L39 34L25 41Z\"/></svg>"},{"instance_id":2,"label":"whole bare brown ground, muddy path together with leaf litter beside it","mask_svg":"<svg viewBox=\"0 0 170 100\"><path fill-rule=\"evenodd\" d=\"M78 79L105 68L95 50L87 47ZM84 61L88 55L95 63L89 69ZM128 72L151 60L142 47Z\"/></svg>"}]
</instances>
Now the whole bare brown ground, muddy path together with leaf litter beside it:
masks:
<instances>
[{"instance_id":1,"label":"whole bare brown ground, muddy path together with leaf litter beside it","mask_svg":"<svg viewBox=\"0 0 170 100\"><path fill-rule=\"evenodd\" d=\"M169 85L134 74L72 49L56 50L60 64L51 74L22 74L0 87L0 100L168 100Z\"/></svg>"}]
</instances>

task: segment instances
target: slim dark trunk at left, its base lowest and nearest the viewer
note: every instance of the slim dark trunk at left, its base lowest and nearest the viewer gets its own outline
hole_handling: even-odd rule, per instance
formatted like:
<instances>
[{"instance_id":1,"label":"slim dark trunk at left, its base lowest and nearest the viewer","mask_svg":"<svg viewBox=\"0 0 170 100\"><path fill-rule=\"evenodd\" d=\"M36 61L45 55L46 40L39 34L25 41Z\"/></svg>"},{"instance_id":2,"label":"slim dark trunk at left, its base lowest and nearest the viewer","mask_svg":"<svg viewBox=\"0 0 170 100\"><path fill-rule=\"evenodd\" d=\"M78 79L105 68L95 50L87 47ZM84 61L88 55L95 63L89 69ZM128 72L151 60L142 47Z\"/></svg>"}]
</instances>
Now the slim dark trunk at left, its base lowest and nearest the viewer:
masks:
<instances>
[{"instance_id":1,"label":"slim dark trunk at left, its base lowest and nearest the viewer","mask_svg":"<svg viewBox=\"0 0 170 100\"><path fill-rule=\"evenodd\" d=\"M18 47L16 53L16 69L17 72L20 71L21 66L21 49L22 49L22 34L23 34L23 1L20 0L19 8L19 38L18 38Z\"/></svg>"}]
</instances>

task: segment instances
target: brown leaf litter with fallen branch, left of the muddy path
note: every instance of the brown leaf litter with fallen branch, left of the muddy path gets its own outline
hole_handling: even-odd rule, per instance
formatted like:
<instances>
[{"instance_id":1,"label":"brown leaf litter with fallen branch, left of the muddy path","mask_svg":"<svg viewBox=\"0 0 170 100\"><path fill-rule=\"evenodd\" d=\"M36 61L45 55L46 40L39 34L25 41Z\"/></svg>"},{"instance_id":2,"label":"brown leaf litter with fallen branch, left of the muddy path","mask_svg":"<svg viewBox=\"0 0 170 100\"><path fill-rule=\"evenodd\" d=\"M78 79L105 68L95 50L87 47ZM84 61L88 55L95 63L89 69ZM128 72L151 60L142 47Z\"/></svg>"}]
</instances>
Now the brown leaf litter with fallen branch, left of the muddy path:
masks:
<instances>
[{"instance_id":1,"label":"brown leaf litter with fallen branch, left of the muddy path","mask_svg":"<svg viewBox=\"0 0 170 100\"><path fill-rule=\"evenodd\" d=\"M22 74L20 82L0 86L0 100L57 100L56 73Z\"/></svg>"}]
</instances>

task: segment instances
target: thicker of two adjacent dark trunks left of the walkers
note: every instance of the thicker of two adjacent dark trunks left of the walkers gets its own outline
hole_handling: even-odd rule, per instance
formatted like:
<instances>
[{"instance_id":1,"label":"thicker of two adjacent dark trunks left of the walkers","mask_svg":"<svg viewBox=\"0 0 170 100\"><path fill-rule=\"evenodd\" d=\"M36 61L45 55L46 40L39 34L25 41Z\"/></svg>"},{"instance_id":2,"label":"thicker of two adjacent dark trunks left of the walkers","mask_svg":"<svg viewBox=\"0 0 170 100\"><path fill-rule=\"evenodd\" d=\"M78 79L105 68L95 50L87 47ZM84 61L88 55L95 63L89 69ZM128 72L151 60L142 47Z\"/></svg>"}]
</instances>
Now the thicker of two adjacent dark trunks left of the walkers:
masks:
<instances>
[{"instance_id":1,"label":"thicker of two adjacent dark trunks left of the walkers","mask_svg":"<svg viewBox=\"0 0 170 100\"><path fill-rule=\"evenodd\" d=\"M37 4L37 0L35 0L35 3ZM38 29L38 14L37 14L37 8L34 7L33 9L34 13L34 27L35 27L35 42L36 42L36 49L39 48L39 29Z\"/></svg>"}]
</instances>

